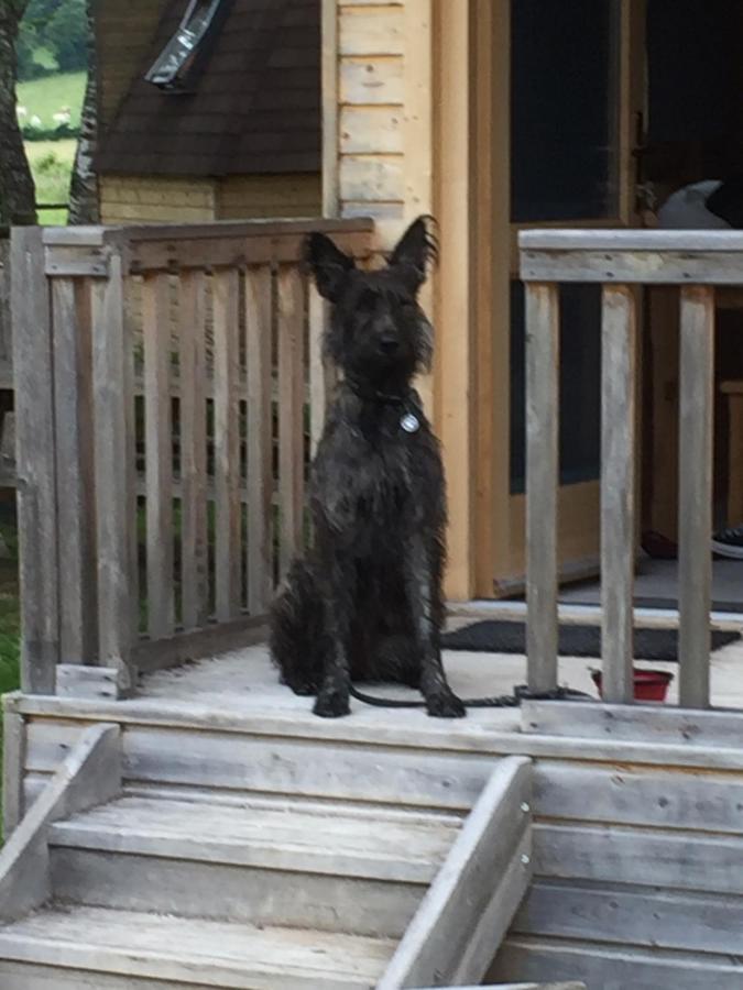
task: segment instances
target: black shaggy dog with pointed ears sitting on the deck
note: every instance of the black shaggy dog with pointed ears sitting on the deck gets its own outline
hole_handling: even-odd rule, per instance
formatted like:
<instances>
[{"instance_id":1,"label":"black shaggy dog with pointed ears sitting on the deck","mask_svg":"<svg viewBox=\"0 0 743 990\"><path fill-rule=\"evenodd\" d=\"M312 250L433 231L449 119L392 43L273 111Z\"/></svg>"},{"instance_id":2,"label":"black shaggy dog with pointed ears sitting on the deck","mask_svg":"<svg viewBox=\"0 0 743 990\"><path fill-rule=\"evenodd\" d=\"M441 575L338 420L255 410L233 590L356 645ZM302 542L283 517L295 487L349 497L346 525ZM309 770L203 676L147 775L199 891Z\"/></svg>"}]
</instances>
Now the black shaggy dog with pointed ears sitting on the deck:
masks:
<instances>
[{"instance_id":1,"label":"black shaggy dog with pointed ears sitting on the deck","mask_svg":"<svg viewBox=\"0 0 743 990\"><path fill-rule=\"evenodd\" d=\"M381 271L362 272L324 234L306 257L332 304L325 346L342 372L312 468L314 544L271 616L282 680L347 715L352 681L419 688L429 715L465 715L441 667L446 495L439 448L411 382L430 365L417 302L436 248L415 220Z\"/></svg>"}]
</instances>

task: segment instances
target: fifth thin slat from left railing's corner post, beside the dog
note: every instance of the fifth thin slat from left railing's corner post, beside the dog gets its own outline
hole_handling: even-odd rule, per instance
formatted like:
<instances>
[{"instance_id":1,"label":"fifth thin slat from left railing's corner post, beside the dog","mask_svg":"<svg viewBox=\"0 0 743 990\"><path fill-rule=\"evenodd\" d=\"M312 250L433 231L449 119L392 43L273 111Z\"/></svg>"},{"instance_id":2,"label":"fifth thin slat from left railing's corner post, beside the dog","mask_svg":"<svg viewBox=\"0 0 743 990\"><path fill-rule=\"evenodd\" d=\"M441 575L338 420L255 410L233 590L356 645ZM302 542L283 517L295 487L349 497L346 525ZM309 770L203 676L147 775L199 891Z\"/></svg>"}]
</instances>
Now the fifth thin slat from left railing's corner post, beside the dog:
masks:
<instances>
[{"instance_id":1,"label":"fifth thin slat from left railing's corner post, beside the dog","mask_svg":"<svg viewBox=\"0 0 743 990\"><path fill-rule=\"evenodd\" d=\"M305 285L295 266L278 271L278 575L303 546Z\"/></svg>"}]
</instances>

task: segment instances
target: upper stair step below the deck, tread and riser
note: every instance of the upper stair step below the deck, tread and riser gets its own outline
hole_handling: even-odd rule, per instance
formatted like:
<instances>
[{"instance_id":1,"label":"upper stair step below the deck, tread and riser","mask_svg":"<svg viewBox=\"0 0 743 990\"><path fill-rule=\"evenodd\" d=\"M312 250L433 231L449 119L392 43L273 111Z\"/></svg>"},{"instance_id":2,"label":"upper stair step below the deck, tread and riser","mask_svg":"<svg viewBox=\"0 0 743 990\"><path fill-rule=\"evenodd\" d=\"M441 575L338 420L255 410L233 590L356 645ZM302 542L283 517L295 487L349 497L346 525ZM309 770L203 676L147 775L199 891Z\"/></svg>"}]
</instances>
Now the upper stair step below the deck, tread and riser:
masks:
<instances>
[{"instance_id":1,"label":"upper stair step below the deck, tread and riser","mask_svg":"<svg viewBox=\"0 0 743 990\"><path fill-rule=\"evenodd\" d=\"M57 899L400 937L459 820L332 805L123 796L56 823Z\"/></svg>"}]
</instances>

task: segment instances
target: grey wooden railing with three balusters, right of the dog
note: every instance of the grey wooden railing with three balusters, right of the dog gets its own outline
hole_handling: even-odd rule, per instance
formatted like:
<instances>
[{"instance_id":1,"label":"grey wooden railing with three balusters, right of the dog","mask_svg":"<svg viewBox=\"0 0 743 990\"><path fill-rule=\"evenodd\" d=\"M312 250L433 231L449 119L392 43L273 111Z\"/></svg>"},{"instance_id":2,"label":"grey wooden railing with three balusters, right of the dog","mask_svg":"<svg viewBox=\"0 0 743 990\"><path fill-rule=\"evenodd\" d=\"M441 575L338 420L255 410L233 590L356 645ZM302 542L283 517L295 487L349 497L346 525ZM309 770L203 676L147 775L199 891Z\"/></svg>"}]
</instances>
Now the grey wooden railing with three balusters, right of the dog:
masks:
<instances>
[{"instance_id":1,"label":"grey wooden railing with three balusters, right of the dog","mask_svg":"<svg viewBox=\"0 0 743 990\"><path fill-rule=\"evenodd\" d=\"M520 235L526 283L528 681L557 686L559 296L603 286L601 595L604 701L633 701L635 288L680 287L679 703L709 706L715 286L743 284L733 231L532 230Z\"/></svg>"}]
</instances>

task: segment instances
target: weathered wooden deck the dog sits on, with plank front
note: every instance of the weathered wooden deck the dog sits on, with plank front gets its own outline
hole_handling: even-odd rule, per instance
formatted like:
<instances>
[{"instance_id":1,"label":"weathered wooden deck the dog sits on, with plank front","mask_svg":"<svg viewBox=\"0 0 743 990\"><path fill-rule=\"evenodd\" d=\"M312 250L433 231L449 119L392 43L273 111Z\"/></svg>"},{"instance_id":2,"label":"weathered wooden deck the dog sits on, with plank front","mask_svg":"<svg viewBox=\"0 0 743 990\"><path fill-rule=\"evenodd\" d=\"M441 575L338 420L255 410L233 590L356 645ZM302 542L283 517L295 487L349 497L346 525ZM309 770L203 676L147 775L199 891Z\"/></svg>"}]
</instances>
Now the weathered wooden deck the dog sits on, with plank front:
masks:
<instances>
[{"instance_id":1,"label":"weathered wooden deck the dog sits on, with plank front","mask_svg":"<svg viewBox=\"0 0 743 990\"><path fill-rule=\"evenodd\" d=\"M741 680L741 662L740 646L713 654L719 701L735 703L729 692ZM587 686L590 666L561 659L560 680ZM523 681L525 660L449 653L447 667L457 691L492 694ZM337 814L342 806L379 821L462 815L494 767L526 757L534 772L534 880L492 982L743 990L739 712L532 702L445 722L354 702L351 716L327 721L276 683L256 646L147 674L131 700L19 696L7 718L11 729L22 728L20 805L97 722L121 727L125 800L207 802L252 807L252 815L265 814L254 805L284 802L287 793L316 811ZM73 839L79 836L65 842ZM183 836L171 842L185 848ZM204 839L198 849L208 853ZM78 876L95 880L96 870L86 869ZM122 898L132 899L124 903L141 904L142 890L134 880L124 884ZM619 982L607 982L615 972Z\"/></svg>"}]
</instances>

